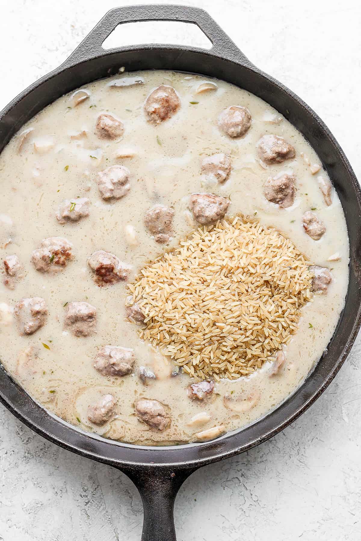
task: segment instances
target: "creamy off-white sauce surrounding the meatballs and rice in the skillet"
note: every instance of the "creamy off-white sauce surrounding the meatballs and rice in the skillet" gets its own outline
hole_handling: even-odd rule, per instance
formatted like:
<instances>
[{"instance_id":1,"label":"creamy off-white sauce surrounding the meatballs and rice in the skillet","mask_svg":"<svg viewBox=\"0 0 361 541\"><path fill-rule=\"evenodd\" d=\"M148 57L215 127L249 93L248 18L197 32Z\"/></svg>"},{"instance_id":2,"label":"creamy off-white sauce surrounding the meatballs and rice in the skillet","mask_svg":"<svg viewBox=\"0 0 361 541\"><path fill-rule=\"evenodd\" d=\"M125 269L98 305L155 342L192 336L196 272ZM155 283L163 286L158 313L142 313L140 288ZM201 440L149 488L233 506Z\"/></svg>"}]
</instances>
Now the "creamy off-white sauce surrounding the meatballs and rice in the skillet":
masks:
<instances>
[{"instance_id":1,"label":"creamy off-white sauce surrounding the meatballs and rice in the skillet","mask_svg":"<svg viewBox=\"0 0 361 541\"><path fill-rule=\"evenodd\" d=\"M143 77L145 83L111 88L108 83L117 77L97 81L84 87L90 97L76 107L71 107L74 99L71 101L70 95L63 96L20 130L24 133L33 128L20 151L16 136L0 156L0 257L3 260L16 254L24 267L24 276L13 290L0 284L1 359L34 399L75 426L132 443L193 441L200 430L216 425L234 430L262 417L296 390L312 370L344 306L349 262L346 223L337 194L333 194L331 206L326 206L320 192L317 176L326 177L325 171L311 173L310 164L320 164L318 156L270 105L224 81L214 80L216 91L196 94L199 84L206 81L204 77L166 71L143 71L131 76ZM170 120L154 126L147 121L143 104L159 84L175 88L181 108ZM252 115L250 130L235 140L223 135L217 126L219 113L229 105L243 105ZM101 113L123 121L124 135L119 140L101 140L95 135ZM267 133L290 142L296 148L296 158L261 165L256 143ZM218 152L231 155L231 176L224 184L204 185L201 160ZM96 174L114 164L129 168L131 188L123 199L109 203L100 197ZM281 172L296 176L297 195L293 206L286 209L269 203L262 192L267 178ZM186 387L194 380L185 374L145 386L136 373L104 377L95 371L95 355L107 344L133 348L135 372L140 365L152 367L154 360L149 345L140 341L136 326L126 318L126 283L97 287L87 266L95 250L107 250L132 266L132 278L162 251L143 225L145 212L155 203L174 208L176 233L168 248L194 227L187 210L188 199L192 193L202 191L229 196L229 214L257 213L262 224L279 229L316 265L331 267L333 276L328 294L314 295L313 302L303 309L299 331L287 347L279 374L270 375L270 362L250 377L221 380L208 403L187 398ZM55 216L58 206L64 199L74 201L76 197L90 199L89 216L62 225ZM311 208L317 209L315 212L326 226L319 241L306 235L302 225L303 213ZM31 264L31 253L42 239L51 236L65 237L73 243L75 259L59 272L37 272ZM335 253L337 260L329 261ZM32 296L45 299L49 316L36 333L20 336L12 308L19 300ZM96 307L94 336L75 337L64 329L63 305L71 301L87 301ZM224 395L243 390L259 395L257 403L241 413L225 408ZM103 394L112 394L117 400L116 418L97 427L89 423L87 407ZM134 400L139 397L156 399L166 406L172 418L166 431L150 430L137 419ZM194 415L202 412L208 416L204 415L198 425L189 425Z\"/></svg>"}]
</instances>

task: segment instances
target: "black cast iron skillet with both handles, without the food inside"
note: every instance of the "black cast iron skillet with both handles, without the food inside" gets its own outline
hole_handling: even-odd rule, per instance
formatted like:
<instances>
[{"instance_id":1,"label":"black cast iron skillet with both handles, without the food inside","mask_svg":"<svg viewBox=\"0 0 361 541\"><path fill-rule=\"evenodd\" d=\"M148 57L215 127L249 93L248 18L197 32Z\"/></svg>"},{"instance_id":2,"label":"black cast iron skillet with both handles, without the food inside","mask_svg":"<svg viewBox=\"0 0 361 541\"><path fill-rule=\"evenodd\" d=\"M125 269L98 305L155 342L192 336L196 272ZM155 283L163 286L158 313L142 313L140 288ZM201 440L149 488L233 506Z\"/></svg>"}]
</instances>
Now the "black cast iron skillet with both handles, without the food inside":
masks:
<instances>
[{"instance_id":1,"label":"black cast iron skillet with both handles, without the food inside","mask_svg":"<svg viewBox=\"0 0 361 541\"><path fill-rule=\"evenodd\" d=\"M118 24L155 20L196 24L213 47L209 51L175 45L102 49L104 39ZM170 69L215 76L270 103L304 134L320 156L342 202L350 239L349 291L327 353L304 384L276 410L251 426L214 441L154 448L106 440L47 413L0 370L0 399L17 418L53 443L126 473L143 500L142 541L172 541L174 500L183 481L199 467L246 451L283 430L323 393L350 352L361 324L361 191L342 149L320 118L298 96L248 61L205 11L179 5L110 10L68 60L5 107L0 114L0 151L45 105L83 84L116 74L121 66L127 71Z\"/></svg>"}]
</instances>

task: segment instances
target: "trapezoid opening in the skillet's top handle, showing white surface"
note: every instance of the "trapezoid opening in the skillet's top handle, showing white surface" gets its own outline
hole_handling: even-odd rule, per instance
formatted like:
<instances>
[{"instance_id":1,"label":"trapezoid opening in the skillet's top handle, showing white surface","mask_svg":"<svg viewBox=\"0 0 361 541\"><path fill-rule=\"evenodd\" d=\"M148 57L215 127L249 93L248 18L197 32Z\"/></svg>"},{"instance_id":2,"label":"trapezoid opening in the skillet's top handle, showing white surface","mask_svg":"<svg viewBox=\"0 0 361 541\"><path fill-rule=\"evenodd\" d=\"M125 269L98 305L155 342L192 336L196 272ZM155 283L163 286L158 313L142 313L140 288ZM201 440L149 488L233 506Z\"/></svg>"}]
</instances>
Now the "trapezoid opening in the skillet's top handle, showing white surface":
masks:
<instances>
[{"instance_id":1,"label":"trapezoid opening in the skillet's top handle, showing white surface","mask_svg":"<svg viewBox=\"0 0 361 541\"><path fill-rule=\"evenodd\" d=\"M211 49L213 46L196 24L178 21L142 21L136 22L136 25L134 23L117 25L104 39L102 48L108 50L143 43L192 45L201 49Z\"/></svg>"}]
</instances>

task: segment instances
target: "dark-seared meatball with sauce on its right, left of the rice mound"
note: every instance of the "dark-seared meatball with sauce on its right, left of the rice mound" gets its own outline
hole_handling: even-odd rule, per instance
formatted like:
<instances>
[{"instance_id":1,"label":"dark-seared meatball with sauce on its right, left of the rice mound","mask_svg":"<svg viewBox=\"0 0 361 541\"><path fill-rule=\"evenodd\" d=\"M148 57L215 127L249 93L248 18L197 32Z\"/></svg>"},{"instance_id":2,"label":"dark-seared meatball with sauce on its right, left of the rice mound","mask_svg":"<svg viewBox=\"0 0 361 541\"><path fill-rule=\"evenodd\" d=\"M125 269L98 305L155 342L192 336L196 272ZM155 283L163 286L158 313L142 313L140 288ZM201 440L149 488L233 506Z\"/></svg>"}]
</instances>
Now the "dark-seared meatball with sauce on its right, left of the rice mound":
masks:
<instances>
[{"instance_id":1,"label":"dark-seared meatball with sauce on its right, left of the rice mound","mask_svg":"<svg viewBox=\"0 0 361 541\"><path fill-rule=\"evenodd\" d=\"M130 271L129 265L104 250L94 252L88 259L88 265L95 274L94 281L98 286L127 280Z\"/></svg>"}]
</instances>

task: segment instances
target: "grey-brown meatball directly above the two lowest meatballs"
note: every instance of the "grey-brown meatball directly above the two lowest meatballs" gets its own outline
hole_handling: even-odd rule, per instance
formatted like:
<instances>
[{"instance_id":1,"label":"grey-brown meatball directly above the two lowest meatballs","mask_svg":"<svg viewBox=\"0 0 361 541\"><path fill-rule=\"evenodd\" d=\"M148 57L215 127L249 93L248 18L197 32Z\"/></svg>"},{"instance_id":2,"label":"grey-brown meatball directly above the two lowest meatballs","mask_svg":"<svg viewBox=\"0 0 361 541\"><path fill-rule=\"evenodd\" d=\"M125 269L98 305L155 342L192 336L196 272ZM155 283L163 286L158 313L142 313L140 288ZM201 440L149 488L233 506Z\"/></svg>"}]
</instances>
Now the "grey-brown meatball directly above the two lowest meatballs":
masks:
<instances>
[{"instance_id":1,"label":"grey-brown meatball directly above the two lowest meatballs","mask_svg":"<svg viewBox=\"0 0 361 541\"><path fill-rule=\"evenodd\" d=\"M93 366L102 375L126 375L133 372L134 361L133 349L103 346Z\"/></svg>"}]
</instances>

